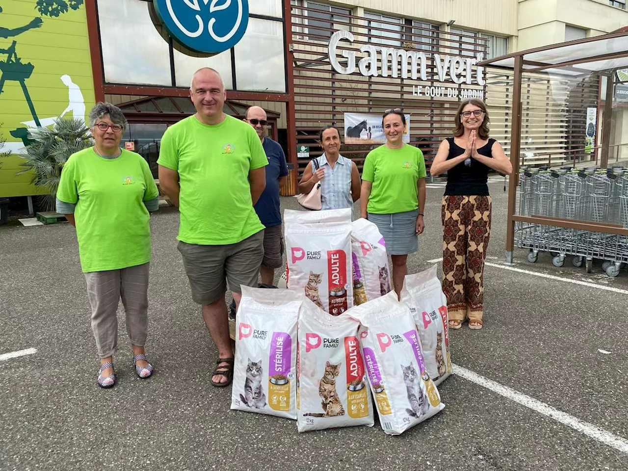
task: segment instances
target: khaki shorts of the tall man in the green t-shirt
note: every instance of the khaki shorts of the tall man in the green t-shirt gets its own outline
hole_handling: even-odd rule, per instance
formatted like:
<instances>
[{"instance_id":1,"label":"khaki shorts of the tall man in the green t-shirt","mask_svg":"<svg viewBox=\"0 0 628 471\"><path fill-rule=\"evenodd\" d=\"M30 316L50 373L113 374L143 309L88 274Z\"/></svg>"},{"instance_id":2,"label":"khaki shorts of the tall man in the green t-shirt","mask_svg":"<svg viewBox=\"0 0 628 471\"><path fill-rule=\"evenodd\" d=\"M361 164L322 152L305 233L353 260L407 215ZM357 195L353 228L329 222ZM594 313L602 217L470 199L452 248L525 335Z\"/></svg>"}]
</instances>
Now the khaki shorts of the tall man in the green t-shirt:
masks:
<instances>
[{"instance_id":1,"label":"khaki shorts of the tall man in the green t-shirt","mask_svg":"<svg viewBox=\"0 0 628 471\"><path fill-rule=\"evenodd\" d=\"M241 293L240 285L257 286L259 266L264 257L264 230L237 244L201 246L179 242L183 267L190 280L192 300L211 304L229 290ZM226 280L225 280L226 278Z\"/></svg>"}]
</instances>

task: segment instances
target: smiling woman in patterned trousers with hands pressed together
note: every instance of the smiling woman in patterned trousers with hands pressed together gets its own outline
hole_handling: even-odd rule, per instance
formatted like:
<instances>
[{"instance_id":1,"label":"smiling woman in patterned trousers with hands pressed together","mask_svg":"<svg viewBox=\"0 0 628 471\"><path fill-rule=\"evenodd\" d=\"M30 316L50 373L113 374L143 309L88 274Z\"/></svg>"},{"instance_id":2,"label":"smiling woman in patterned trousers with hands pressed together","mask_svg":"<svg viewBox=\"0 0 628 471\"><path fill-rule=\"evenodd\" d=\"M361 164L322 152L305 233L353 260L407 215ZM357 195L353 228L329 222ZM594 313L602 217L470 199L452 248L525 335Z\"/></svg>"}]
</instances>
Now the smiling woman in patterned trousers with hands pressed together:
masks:
<instances>
[{"instance_id":1,"label":"smiling woman in patterned trousers with hands pressed together","mask_svg":"<svg viewBox=\"0 0 628 471\"><path fill-rule=\"evenodd\" d=\"M512 165L502 146L489 138L484 102L465 100L455 115L453 137L445 139L431 175L447 171L443 196L443 291L449 327L482 328L484 259L490 236L490 170L510 175Z\"/></svg>"}]
</instances>

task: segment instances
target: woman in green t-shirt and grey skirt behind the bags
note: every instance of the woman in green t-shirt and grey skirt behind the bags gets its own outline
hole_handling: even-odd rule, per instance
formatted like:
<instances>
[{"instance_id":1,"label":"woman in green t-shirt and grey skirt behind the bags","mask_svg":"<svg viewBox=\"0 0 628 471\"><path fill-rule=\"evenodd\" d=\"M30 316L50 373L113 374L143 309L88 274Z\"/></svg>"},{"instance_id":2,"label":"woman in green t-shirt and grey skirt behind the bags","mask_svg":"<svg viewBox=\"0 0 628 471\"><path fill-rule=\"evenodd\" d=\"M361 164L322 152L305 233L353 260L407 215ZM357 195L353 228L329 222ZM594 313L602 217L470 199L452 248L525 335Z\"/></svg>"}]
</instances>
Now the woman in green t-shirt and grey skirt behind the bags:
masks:
<instances>
[{"instance_id":1,"label":"woman in green t-shirt and grey skirt behind the bags","mask_svg":"<svg viewBox=\"0 0 628 471\"><path fill-rule=\"evenodd\" d=\"M399 296L408 273L408 254L418 249L425 208L425 160L420 149L403 142L406 117L401 108L384 111L386 144L366 156L362 170L360 217L377 225L393 261Z\"/></svg>"}]
</instances>

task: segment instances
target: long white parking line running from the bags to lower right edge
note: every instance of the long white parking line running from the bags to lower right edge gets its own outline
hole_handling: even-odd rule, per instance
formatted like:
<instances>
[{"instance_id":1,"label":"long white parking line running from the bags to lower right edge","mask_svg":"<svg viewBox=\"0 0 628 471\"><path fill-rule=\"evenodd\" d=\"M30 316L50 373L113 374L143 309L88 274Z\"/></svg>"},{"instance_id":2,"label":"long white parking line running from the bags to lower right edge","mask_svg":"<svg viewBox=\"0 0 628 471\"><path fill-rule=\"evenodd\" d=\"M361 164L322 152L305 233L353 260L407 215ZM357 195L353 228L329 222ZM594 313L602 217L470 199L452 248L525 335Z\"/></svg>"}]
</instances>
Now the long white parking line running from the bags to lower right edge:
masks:
<instances>
[{"instance_id":1,"label":"long white parking line running from the bags to lower right edge","mask_svg":"<svg viewBox=\"0 0 628 471\"><path fill-rule=\"evenodd\" d=\"M454 374L457 374L458 376L461 376L468 381L474 382L479 386L485 387L486 389L489 389L494 393L504 396L504 398L511 399L511 401L532 409L539 414L548 416L549 418L552 418L553 420L560 422L563 425L571 427L573 428L573 430L577 430L580 433L583 433L584 435L593 438L593 440L600 441L600 443L604 443L604 445L608 445L609 447L613 447L622 453L628 454L628 440L625 440L625 438L613 435L603 428L599 428L598 426L577 419L570 414L559 411L558 409L555 409L548 404L542 403L541 401L531 398L530 396L526 396L526 394L518 393L510 387L502 386L495 381L485 378L484 376L480 376L479 374L465 369L461 366L453 365L453 372Z\"/></svg>"}]
</instances>

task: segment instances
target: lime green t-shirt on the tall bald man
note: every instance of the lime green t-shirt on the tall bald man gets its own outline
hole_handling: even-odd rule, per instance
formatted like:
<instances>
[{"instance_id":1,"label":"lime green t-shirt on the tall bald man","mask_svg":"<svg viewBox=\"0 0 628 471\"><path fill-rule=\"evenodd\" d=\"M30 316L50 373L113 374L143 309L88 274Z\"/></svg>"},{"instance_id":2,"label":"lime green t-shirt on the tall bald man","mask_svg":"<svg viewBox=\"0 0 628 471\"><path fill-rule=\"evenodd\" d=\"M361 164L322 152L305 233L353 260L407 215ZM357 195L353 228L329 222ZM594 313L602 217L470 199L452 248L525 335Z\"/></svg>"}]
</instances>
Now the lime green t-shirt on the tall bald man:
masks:
<instances>
[{"instance_id":1,"label":"lime green t-shirt on the tall bald man","mask_svg":"<svg viewBox=\"0 0 628 471\"><path fill-rule=\"evenodd\" d=\"M255 129L232 116L208 126L190 116L166 129L159 165L179 173L178 240L237 244L264 226L253 208L249 171L268 165Z\"/></svg>"}]
</instances>

